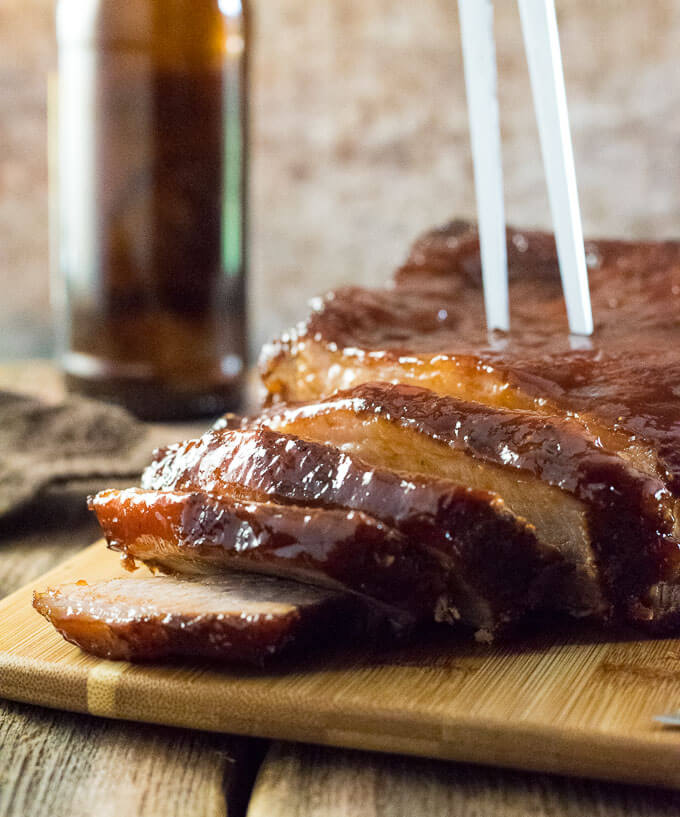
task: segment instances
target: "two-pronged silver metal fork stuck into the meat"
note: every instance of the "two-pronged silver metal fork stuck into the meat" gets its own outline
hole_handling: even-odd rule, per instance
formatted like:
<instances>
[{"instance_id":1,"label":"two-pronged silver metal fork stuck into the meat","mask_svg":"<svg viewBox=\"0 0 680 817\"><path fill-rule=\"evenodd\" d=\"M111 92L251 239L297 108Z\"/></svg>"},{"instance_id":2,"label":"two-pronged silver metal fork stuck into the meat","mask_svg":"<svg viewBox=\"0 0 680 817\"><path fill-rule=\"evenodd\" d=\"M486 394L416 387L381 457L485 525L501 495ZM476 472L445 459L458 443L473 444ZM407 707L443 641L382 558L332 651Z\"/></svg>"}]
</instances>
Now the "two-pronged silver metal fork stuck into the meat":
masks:
<instances>
[{"instance_id":1,"label":"two-pronged silver metal fork stuck into the meat","mask_svg":"<svg viewBox=\"0 0 680 817\"><path fill-rule=\"evenodd\" d=\"M554 0L518 0L569 329L593 318ZM493 0L458 0L487 326L510 329Z\"/></svg>"}]
</instances>

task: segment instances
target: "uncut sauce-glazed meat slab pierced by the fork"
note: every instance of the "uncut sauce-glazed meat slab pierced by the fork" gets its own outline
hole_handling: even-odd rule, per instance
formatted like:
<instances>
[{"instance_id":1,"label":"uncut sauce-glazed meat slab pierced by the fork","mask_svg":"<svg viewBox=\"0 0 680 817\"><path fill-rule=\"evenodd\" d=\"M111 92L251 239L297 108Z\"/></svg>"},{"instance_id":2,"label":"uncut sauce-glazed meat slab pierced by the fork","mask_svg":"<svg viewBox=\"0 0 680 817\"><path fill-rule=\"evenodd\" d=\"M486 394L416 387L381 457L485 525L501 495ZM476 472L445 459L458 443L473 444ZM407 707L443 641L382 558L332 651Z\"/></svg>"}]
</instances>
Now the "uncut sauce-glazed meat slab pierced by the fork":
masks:
<instances>
[{"instance_id":1,"label":"uncut sauce-glazed meat slab pierced by the fork","mask_svg":"<svg viewBox=\"0 0 680 817\"><path fill-rule=\"evenodd\" d=\"M568 415L680 495L680 242L587 242L595 334L572 345L552 236L509 230L513 331L486 333L479 242L454 222L418 241L395 285L350 287L262 358L272 399L367 381Z\"/></svg>"}]
</instances>

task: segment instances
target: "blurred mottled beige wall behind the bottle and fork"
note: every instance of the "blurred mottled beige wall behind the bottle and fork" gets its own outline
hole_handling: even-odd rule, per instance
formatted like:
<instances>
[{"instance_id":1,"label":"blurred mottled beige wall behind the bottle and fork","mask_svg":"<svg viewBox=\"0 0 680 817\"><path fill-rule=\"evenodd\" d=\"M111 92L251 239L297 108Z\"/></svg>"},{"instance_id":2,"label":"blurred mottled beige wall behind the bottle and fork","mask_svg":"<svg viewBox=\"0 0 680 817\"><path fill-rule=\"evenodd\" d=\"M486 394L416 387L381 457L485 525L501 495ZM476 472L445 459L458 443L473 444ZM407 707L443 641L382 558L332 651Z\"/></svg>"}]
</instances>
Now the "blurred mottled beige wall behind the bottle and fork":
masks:
<instances>
[{"instance_id":1,"label":"blurred mottled beige wall behind the bottle and fork","mask_svg":"<svg viewBox=\"0 0 680 817\"><path fill-rule=\"evenodd\" d=\"M254 6L255 347L315 292L383 280L474 196L454 0ZM508 218L548 226L516 4L496 9ZM680 3L558 10L587 232L680 234ZM0 358L50 351L52 17L51 0L0 0Z\"/></svg>"}]
</instances>

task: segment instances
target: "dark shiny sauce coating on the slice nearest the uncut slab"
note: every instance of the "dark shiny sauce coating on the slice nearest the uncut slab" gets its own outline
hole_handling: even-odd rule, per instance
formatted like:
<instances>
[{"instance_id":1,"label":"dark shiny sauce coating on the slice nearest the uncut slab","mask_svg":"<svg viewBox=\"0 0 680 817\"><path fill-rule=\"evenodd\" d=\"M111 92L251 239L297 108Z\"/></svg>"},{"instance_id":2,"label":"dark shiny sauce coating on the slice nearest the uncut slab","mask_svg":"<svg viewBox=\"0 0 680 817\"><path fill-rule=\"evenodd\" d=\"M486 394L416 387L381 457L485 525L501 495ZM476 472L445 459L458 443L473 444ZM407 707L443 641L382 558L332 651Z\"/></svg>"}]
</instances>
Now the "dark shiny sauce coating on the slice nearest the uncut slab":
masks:
<instances>
[{"instance_id":1,"label":"dark shiny sauce coating on the slice nearest the uncut slab","mask_svg":"<svg viewBox=\"0 0 680 817\"><path fill-rule=\"evenodd\" d=\"M241 425L285 431L291 424L302 433L304 418L326 414L343 423L347 412L359 423L402 426L475 460L528 472L582 501L605 597L619 617L651 618L649 588L677 580L671 492L658 477L604 450L571 418L466 402L417 386L365 383L325 400L273 406ZM359 424L353 433L361 434Z\"/></svg>"}]
</instances>

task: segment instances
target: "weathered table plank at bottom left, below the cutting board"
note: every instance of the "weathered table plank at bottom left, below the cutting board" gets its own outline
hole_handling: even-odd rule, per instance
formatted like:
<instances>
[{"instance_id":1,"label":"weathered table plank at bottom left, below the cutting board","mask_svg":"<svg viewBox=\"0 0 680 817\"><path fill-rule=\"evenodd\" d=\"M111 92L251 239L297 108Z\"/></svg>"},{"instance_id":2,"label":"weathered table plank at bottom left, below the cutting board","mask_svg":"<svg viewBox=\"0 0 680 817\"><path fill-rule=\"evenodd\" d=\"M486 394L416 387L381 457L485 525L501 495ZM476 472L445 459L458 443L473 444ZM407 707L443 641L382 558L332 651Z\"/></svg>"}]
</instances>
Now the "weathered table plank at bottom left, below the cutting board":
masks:
<instances>
[{"instance_id":1,"label":"weathered table plank at bottom left, below the cutting board","mask_svg":"<svg viewBox=\"0 0 680 817\"><path fill-rule=\"evenodd\" d=\"M242 813L256 748L228 735L124 724L6 704L0 814L27 817ZM232 810L233 807L233 810Z\"/></svg>"}]
</instances>

